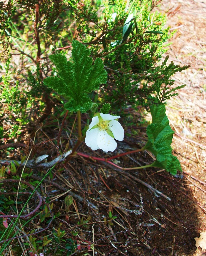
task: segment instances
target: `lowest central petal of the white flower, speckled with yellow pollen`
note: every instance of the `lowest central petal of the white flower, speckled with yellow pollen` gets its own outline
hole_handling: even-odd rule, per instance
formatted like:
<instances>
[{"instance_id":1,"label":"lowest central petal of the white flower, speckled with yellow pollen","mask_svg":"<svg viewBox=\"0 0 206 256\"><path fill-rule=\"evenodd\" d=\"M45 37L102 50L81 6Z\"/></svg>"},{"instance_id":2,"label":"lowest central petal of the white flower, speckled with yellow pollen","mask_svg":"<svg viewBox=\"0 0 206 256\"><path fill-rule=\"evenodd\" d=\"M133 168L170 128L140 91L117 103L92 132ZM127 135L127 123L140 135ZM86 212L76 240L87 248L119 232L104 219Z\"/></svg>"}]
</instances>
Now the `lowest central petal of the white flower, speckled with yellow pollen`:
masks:
<instances>
[{"instance_id":1,"label":"lowest central petal of the white flower, speckled with yellow pollen","mask_svg":"<svg viewBox=\"0 0 206 256\"><path fill-rule=\"evenodd\" d=\"M105 130L99 130L97 136L97 145L105 152L114 151L117 147L117 142Z\"/></svg>"}]
</instances>

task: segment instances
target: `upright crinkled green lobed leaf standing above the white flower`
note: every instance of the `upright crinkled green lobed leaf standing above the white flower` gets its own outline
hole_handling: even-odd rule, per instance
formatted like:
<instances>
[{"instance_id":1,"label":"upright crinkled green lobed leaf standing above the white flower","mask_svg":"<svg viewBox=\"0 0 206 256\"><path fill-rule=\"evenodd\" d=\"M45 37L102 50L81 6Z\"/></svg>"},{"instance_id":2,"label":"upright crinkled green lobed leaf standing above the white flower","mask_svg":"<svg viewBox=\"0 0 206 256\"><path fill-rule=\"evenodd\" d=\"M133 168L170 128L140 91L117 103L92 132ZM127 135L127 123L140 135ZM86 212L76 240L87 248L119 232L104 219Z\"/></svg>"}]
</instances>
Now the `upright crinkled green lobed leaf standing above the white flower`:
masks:
<instances>
[{"instance_id":1,"label":"upright crinkled green lobed leaf standing above the white flower","mask_svg":"<svg viewBox=\"0 0 206 256\"><path fill-rule=\"evenodd\" d=\"M100 58L92 65L91 51L80 42L72 42L73 62L67 61L62 54L51 55L49 58L58 69L58 77L47 77L44 84L51 87L58 94L69 98L64 108L69 111L86 112L92 100L87 96L89 92L98 90L100 84L105 84L107 72Z\"/></svg>"}]
</instances>

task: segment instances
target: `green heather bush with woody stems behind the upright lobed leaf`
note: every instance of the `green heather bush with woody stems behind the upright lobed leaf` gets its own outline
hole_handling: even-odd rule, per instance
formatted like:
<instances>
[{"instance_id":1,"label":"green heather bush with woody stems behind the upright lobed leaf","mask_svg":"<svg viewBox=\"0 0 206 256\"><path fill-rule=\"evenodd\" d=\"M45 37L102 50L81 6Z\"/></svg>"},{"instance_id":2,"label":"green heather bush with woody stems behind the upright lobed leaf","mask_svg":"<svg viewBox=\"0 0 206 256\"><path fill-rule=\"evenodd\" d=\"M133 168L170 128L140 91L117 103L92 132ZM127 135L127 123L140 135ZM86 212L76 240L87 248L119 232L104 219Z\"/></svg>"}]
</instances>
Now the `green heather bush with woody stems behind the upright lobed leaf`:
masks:
<instances>
[{"instance_id":1,"label":"green heather bush with woody stems behind the upright lobed leaf","mask_svg":"<svg viewBox=\"0 0 206 256\"><path fill-rule=\"evenodd\" d=\"M151 102L162 103L175 96L180 87L173 86L171 76L187 66L167 64L167 58L159 63L172 33L165 26L165 15L152 11L157 3L0 3L3 134L16 136L21 126L40 117L44 108L46 113L50 111L51 89L42 82L56 72L49 56L64 54L69 59L73 39L88 47L93 60L104 61L107 83L100 86L98 97L95 91L90 95L92 101L98 98L100 105L109 102L111 110L122 111L128 105L148 110Z\"/></svg>"}]
</instances>

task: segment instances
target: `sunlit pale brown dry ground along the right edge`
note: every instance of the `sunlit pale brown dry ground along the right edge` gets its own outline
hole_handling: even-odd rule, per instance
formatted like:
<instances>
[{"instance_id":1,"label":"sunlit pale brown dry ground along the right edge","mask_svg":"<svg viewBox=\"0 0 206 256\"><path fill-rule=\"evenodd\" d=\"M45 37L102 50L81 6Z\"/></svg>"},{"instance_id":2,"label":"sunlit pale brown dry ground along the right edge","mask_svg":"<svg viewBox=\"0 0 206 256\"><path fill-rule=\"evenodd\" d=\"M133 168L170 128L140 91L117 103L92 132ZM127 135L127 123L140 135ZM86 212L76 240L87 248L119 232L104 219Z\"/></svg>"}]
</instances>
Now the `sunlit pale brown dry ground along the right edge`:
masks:
<instances>
[{"instance_id":1,"label":"sunlit pale brown dry ground along the right edge","mask_svg":"<svg viewBox=\"0 0 206 256\"><path fill-rule=\"evenodd\" d=\"M177 29L167 51L169 60L179 65L191 65L186 71L174 75L175 86L187 86L179 91L177 97L168 101L167 114L175 130L172 146L189 181L192 199L205 209L206 3L195 0L164 0L159 8L167 13L167 25L171 26L171 30ZM201 232L205 230L205 211L199 207L197 213L197 228Z\"/></svg>"}]
</instances>

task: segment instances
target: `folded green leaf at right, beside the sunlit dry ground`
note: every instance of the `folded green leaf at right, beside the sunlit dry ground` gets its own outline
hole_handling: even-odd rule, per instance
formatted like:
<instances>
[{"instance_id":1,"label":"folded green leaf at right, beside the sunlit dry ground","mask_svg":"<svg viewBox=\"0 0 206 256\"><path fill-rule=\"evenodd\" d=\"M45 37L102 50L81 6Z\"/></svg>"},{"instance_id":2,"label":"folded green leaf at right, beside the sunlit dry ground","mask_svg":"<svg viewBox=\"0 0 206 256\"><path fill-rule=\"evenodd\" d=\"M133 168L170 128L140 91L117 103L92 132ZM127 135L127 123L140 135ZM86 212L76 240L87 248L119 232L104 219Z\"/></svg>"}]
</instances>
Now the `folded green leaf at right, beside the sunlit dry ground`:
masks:
<instances>
[{"instance_id":1,"label":"folded green leaf at right, beside the sunlit dry ground","mask_svg":"<svg viewBox=\"0 0 206 256\"><path fill-rule=\"evenodd\" d=\"M148 149L156 156L154 167L164 168L174 175L177 170L182 171L182 169L177 157L172 155L170 145L174 132L169 126L165 111L165 105L153 104L150 107L152 124L147 127L148 142L144 149Z\"/></svg>"}]
</instances>

